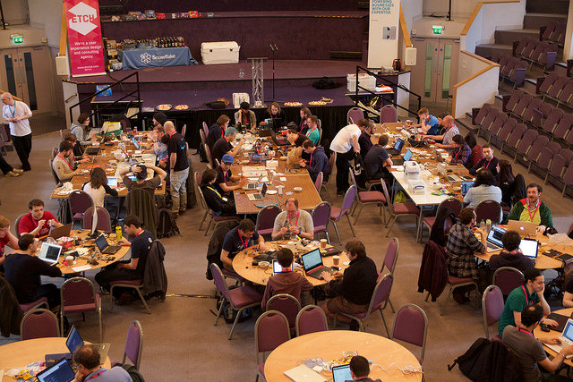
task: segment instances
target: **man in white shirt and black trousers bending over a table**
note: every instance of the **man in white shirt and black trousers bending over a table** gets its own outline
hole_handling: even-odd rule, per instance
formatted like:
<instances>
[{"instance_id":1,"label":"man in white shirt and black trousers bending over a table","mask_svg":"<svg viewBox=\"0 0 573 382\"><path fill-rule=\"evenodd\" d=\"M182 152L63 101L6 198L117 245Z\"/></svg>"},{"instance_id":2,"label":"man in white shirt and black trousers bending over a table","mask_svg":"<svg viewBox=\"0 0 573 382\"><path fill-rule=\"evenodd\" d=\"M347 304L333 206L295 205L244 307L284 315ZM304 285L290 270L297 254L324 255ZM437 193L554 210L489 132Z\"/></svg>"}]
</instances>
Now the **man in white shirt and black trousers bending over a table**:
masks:
<instances>
[{"instance_id":1,"label":"man in white shirt and black trousers bending over a table","mask_svg":"<svg viewBox=\"0 0 573 382\"><path fill-rule=\"evenodd\" d=\"M366 118L356 124L349 124L340 129L330 143L330 149L337 153L337 195L344 195L348 190L348 169L350 160L355 153L360 152L358 138L366 127L374 127L374 123Z\"/></svg>"}]
</instances>

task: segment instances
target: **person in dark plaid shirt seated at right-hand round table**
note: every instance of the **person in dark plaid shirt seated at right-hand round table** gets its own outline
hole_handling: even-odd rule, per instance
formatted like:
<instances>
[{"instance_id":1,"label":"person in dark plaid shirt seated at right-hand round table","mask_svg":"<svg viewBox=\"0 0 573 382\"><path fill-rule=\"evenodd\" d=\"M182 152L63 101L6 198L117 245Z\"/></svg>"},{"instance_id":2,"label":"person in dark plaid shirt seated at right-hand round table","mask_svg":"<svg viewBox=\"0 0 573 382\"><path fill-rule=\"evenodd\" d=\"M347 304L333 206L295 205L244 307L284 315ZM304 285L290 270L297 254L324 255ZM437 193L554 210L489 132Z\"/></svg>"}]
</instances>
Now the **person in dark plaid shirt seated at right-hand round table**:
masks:
<instances>
[{"instance_id":1,"label":"person in dark plaid shirt seated at right-hand round table","mask_svg":"<svg viewBox=\"0 0 573 382\"><path fill-rule=\"evenodd\" d=\"M477 240L475 233L480 233L481 241ZM458 223L449 230L448 243L446 244L446 252L448 253L446 263L450 276L475 280L479 278L474 253L485 253L486 238L487 234L475 225L474 208L462 209L458 215ZM454 300L458 303L469 301L466 293L471 288L471 286L469 288L457 288L453 293Z\"/></svg>"}]
</instances>

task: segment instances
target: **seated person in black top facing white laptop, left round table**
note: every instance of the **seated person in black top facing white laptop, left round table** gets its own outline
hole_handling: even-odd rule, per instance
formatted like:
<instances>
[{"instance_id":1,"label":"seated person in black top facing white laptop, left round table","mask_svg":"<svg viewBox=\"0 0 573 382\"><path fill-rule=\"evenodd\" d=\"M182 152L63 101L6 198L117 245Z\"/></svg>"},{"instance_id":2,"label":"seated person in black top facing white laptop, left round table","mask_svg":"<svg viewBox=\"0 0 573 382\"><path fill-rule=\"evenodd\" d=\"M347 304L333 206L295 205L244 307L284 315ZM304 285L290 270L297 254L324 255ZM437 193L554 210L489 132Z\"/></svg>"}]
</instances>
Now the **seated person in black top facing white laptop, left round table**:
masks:
<instances>
[{"instance_id":1,"label":"seated person in black top facing white laptop, left round table","mask_svg":"<svg viewBox=\"0 0 573 382\"><path fill-rule=\"evenodd\" d=\"M51 309L60 304L60 292L55 284L41 284L40 276L59 277L62 271L33 255L39 244L33 234L22 234L18 239L20 250L5 255L5 278L12 285L19 303L30 303L46 297Z\"/></svg>"}]
</instances>

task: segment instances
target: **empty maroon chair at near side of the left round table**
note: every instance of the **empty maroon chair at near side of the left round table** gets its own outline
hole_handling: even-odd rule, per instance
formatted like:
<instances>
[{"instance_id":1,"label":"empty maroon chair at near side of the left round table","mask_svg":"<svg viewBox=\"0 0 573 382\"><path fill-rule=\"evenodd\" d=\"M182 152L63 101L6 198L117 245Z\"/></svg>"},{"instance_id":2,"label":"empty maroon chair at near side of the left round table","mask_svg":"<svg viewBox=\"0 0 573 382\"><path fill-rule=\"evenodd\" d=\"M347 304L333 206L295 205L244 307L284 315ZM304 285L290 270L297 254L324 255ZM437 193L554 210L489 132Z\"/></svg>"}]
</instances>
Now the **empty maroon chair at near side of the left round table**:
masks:
<instances>
[{"instance_id":1,"label":"empty maroon chair at near side of the left round table","mask_svg":"<svg viewBox=\"0 0 573 382\"><path fill-rule=\"evenodd\" d=\"M103 343L103 329L101 325L101 300L93 283L85 277L72 277L67 279L60 289L60 327L64 336L64 316L71 313L95 311L99 318L99 342Z\"/></svg>"}]
</instances>

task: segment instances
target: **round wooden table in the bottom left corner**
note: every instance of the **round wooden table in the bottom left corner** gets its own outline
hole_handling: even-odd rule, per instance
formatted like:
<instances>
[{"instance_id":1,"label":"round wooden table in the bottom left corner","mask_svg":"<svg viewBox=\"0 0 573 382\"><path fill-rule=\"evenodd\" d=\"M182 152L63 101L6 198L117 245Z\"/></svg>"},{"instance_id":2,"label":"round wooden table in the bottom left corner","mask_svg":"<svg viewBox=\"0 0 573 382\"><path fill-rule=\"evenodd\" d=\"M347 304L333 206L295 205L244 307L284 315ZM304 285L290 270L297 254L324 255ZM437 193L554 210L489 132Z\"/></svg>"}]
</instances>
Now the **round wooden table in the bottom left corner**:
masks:
<instances>
[{"instance_id":1,"label":"round wooden table in the bottom left corner","mask_svg":"<svg viewBox=\"0 0 573 382\"><path fill-rule=\"evenodd\" d=\"M59 352L70 352L65 346L65 337L35 338L4 344L0 346L0 370L24 368L30 363L44 361L46 354ZM103 362L103 367L111 367L108 357Z\"/></svg>"}]
</instances>

